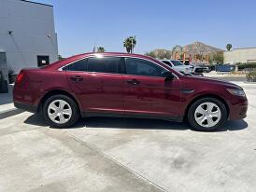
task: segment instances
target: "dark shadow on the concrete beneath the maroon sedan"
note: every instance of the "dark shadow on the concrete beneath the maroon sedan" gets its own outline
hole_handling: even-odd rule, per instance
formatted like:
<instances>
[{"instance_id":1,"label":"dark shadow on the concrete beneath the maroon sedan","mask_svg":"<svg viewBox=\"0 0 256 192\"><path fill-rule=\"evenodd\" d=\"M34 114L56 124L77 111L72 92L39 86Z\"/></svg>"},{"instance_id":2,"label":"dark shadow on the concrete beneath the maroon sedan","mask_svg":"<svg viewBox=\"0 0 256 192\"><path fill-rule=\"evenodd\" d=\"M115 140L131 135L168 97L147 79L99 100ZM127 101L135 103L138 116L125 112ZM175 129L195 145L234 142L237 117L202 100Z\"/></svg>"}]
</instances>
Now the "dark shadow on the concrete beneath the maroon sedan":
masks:
<instances>
[{"instance_id":1,"label":"dark shadow on the concrete beneath the maroon sedan","mask_svg":"<svg viewBox=\"0 0 256 192\"><path fill-rule=\"evenodd\" d=\"M25 124L44 126L48 125L43 117L32 115L25 119ZM146 118L122 118L122 117L87 117L80 118L78 122L68 129L81 128L109 128L109 129L145 129L145 130L191 130L187 122L171 122L159 119ZM248 123L244 120L227 121L219 130L244 130L248 128Z\"/></svg>"}]
</instances>

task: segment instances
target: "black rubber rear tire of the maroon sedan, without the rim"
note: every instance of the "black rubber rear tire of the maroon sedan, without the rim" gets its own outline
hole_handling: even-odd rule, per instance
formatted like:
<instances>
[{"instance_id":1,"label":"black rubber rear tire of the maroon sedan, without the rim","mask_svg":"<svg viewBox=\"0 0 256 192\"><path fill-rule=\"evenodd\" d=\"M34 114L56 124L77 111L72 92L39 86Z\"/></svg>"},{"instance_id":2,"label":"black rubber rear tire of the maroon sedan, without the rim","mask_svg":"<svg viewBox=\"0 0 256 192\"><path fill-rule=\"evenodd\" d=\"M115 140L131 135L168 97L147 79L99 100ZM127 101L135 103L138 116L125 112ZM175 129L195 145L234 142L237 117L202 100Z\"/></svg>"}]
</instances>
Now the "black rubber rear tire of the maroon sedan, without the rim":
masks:
<instances>
[{"instance_id":1,"label":"black rubber rear tire of the maroon sedan, without the rim","mask_svg":"<svg viewBox=\"0 0 256 192\"><path fill-rule=\"evenodd\" d=\"M71 115L70 119L67 122L65 122L64 124L59 124L59 123L52 121L48 115L48 107L49 107L50 103L52 103L55 100L64 100L64 102L68 103L71 107L72 115ZM61 94L50 96L50 98L48 98L46 100L46 102L44 103L42 112L43 112L43 117L45 118L46 122L53 128L71 127L78 121L78 118L80 117L77 103L70 97L61 95Z\"/></svg>"}]
</instances>

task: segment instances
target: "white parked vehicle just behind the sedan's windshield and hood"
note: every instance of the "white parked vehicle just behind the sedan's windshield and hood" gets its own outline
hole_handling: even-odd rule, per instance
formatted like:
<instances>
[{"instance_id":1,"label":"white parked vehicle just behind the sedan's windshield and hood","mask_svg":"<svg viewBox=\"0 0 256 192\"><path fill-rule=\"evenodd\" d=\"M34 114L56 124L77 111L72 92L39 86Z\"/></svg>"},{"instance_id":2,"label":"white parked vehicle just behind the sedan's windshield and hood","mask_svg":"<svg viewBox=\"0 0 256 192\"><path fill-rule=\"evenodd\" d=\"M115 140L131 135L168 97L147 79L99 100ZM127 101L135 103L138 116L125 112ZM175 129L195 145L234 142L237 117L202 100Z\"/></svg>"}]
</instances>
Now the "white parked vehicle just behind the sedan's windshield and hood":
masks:
<instances>
[{"instance_id":1,"label":"white parked vehicle just behind the sedan's windshield and hood","mask_svg":"<svg viewBox=\"0 0 256 192\"><path fill-rule=\"evenodd\" d=\"M174 70L181 73L192 74L193 72L192 65L185 65L182 62L179 62L178 60L161 60L161 62L164 62L165 64L172 67Z\"/></svg>"}]
</instances>

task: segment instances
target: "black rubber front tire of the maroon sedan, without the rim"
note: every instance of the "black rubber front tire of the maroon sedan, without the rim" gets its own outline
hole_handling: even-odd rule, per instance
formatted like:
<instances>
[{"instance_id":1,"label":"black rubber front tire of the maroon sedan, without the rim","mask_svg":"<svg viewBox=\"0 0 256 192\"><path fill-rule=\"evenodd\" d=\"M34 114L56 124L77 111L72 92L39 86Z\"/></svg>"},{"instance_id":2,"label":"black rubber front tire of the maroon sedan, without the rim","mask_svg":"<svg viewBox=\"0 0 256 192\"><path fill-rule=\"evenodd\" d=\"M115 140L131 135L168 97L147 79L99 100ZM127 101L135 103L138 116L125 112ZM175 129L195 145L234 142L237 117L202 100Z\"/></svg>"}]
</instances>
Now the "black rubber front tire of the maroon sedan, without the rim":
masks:
<instances>
[{"instance_id":1,"label":"black rubber front tire of the maroon sedan, without the rim","mask_svg":"<svg viewBox=\"0 0 256 192\"><path fill-rule=\"evenodd\" d=\"M195 113L196 108L202 103L215 103L219 106L221 116L220 116L220 121L215 126L206 128L206 127L199 125L196 122L194 113ZM226 109L225 104L222 103L220 100L211 98L211 97L206 97L206 98L199 99L198 101L195 101L194 103L192 103L192 105L189 109L189 112L188 112L188 121L189 121L190 125L192 126L193 130L218 130L218 129L220 129L221 125L226 121L226 119L227 119L227 109Z\"/></svg>"}]
</instances>

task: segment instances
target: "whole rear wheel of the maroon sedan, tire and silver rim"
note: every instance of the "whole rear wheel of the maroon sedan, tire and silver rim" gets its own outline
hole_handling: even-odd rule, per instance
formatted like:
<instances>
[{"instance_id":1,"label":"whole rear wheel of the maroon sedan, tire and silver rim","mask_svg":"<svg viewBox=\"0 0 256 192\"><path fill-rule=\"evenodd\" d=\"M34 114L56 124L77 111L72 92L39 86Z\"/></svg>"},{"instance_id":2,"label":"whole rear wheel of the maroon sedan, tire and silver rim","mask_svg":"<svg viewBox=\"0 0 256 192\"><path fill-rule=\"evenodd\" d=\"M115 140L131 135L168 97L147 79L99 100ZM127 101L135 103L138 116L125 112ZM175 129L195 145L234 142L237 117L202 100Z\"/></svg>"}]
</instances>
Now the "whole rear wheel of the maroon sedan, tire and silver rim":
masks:
<instances>
[{"instance_id":1,"label":"whole rear wheel of the maroon sedan, tire and silver rim","mask_svg":"<svg viewBox=\"0 0 256 192\"><path fill-rule=\"evenodd\" d=\"M78 120L78 105L65 95L53 95L45 102L43 115L50 126L67 128Z\"/></svg>"}]
</instances>

